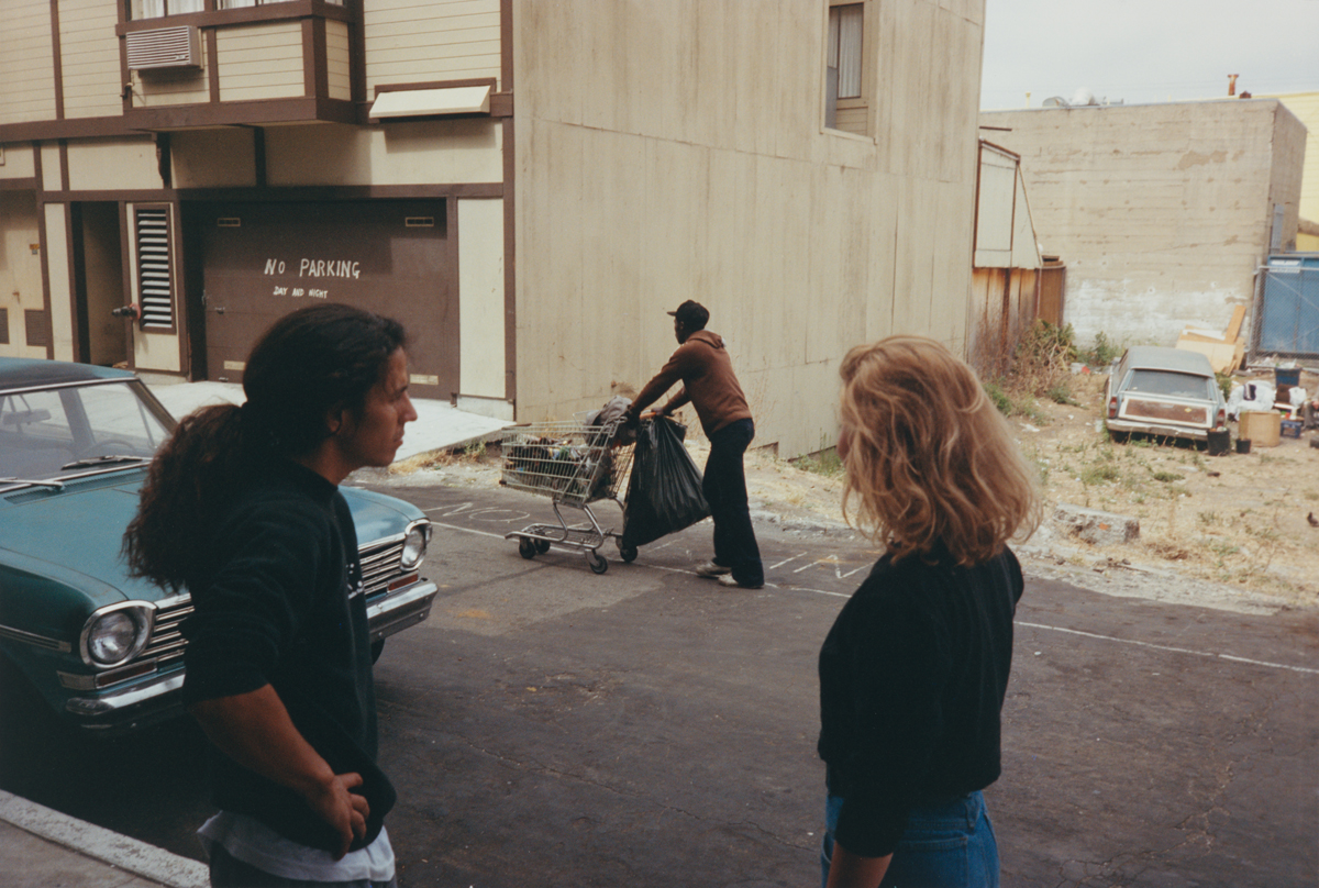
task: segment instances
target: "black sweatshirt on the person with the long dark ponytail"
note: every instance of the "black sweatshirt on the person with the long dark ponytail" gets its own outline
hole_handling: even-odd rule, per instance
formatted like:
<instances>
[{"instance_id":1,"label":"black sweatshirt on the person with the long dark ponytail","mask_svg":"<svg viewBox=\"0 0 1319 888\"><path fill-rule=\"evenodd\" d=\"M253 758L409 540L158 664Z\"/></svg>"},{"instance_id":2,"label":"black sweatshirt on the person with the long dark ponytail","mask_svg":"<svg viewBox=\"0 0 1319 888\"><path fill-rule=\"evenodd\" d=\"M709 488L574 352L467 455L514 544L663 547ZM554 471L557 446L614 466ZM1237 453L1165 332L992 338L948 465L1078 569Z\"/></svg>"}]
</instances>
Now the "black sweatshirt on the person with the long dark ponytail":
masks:
<instances>
[{"instance_id":1,"label":"black sweatshirt on the person with the long dark ponytail","mask_svg":"<svg viewBox=\"0 0 1319 888\"><path fill-rule=\"evenodd\" d=\"M293 462L256 472L226 508L206 567L189 582L194 614L183 701L232 697L272 685L302 736L334 768L365 784L367 835L380 834L394 789L376 767L357 534L339 488ZM253 817L309 847L335 850L334 831L301 796L211 749L216 806Z\"/></svg>"}]
</instances>

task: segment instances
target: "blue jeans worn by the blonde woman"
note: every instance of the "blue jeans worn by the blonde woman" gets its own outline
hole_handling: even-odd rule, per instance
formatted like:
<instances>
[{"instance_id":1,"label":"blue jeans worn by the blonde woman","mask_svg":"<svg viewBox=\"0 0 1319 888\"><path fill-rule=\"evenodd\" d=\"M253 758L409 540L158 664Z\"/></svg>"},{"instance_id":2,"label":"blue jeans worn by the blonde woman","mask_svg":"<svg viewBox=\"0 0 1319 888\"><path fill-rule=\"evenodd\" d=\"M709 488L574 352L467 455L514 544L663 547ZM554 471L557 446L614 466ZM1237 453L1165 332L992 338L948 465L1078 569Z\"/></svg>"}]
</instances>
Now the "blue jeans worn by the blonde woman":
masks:
<instances>
[{"instance_id":1,"label":"blue jeans worn by the blonde woman","mask_svg":"<svg viewBox=\"0 0 1319 888\"><path fill-rule=\"evenodd\" d=\"M824 804L822 885L828 884L834 829L843 800ZM998 843L979 792L939 805L911 809L880 888L998 888Z\"/></svg>"}]
</instances>

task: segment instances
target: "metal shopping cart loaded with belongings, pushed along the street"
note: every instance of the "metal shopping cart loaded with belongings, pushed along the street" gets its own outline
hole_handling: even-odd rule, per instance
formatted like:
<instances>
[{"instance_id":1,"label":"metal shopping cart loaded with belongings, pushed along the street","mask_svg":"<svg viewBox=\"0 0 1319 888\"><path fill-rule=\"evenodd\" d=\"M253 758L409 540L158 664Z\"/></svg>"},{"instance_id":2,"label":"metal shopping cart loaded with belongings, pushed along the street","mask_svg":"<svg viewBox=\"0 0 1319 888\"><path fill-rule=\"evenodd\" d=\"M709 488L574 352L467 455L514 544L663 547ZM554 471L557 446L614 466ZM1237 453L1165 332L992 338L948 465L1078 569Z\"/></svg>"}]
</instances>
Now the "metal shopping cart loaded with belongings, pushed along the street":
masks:
<instances>
[{"instance_id":1,"label":"metal shopping cart loaded with belongings, pushed along the street","mask_svg":"<svg viewBox=\"0 0 1319 888\"><path fill-rule=\"evenodd\" d=\"M559 521L558 525L532 524L505 534L505 540L517 540L518 554L534 558L550 546L576 549L586 554L592 571L603 574L609 562L599 549L613 537L624 561L637 557L636 548L625 548L621 536L612 528L603 529L591 511L591 503L605 499L623 508L617 491L632 466L632 445L617 443L621 425L621 420L603 425L584 425L578 420L533 422L504 430L500 484L549 496ZM559 511L563 505L579 509L587 520L570 525Z\"/></svg>"}]
</instances>

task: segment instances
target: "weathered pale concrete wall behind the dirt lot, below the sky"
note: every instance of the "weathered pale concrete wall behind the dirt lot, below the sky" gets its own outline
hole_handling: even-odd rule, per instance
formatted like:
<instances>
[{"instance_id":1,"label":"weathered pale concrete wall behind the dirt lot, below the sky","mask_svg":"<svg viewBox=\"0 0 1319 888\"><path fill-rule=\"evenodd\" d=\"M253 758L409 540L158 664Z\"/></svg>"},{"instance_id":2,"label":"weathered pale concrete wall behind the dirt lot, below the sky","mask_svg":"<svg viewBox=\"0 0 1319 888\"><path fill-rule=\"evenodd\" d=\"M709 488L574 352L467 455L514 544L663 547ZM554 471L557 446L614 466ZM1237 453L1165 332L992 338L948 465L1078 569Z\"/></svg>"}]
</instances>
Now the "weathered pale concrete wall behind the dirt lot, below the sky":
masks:
<instances>
[{"instance_id":1,"label":"weathered pale concrete wall behind the dirt lot, below the sky","mask_svg":"<svg viewBox=\"0 0 1319 888\"><path fill-rule=\"evenodd\" d=\"M1021 154L1035 234L1067 263L1080 342L1171 346L1249 305L1269 248L1297 231L1304 128L1272 99L985 112Z\"/></svg>"}]
</instances>

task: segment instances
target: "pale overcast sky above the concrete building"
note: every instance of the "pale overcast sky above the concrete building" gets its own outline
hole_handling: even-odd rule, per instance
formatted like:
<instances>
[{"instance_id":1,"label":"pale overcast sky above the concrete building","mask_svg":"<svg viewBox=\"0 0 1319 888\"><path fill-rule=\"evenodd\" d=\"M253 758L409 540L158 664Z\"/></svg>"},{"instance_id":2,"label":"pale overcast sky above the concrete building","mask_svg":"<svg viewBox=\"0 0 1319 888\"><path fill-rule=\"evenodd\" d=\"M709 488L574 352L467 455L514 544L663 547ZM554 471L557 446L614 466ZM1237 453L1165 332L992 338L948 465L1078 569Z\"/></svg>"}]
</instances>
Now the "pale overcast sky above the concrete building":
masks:
<instances>
[{"instance_id":1,"label":"pale overcast sky above the concrete building","mask_svg":"<svg viewBox=\"0 0 1319 888\"><path fill-rule=\"evenodd\" d=\"M985 0L985 111L1319 91L1319 0Z\"/></svg>"}]
</instances>

